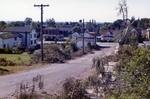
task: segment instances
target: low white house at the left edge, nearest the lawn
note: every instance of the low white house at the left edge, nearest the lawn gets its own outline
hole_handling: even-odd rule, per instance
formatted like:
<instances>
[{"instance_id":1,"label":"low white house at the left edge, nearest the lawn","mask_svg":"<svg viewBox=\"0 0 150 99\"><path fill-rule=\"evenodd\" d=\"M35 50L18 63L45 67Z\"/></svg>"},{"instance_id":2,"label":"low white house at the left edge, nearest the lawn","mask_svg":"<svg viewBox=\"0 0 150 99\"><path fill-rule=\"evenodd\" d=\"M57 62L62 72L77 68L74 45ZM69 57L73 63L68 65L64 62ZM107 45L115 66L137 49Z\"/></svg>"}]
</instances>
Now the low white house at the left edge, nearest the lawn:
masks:
<instances>
[{"instance_id":1,"label":"low white house at the left edge, nearest the lawn","mask_svg":"<svg viewBox=\"0 0 150 99\"><path fill-rule=\"evenodd\" d=\"M0 33L0 48L13 48L21 46L22 35L18 33Z\"/></svg>"}]
</instances>

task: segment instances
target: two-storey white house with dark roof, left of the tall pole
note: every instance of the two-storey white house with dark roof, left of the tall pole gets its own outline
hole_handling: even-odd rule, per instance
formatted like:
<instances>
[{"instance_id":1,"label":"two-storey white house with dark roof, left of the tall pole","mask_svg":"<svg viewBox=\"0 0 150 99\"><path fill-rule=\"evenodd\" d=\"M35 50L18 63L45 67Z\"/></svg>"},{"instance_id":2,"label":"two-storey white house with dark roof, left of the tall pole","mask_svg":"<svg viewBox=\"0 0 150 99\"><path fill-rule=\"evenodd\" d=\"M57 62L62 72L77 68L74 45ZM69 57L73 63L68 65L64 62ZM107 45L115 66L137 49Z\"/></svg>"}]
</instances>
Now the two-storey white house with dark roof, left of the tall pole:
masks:
<instances>
[{"instance_id":1,"label":"two-storey white house with dark roof, left of the tall pole","mask_svg":"<svg viewBox=\"0 0 150 99\"><path fill-rule=\"evenodd\" d=\"M1 32L21 35L21 48L35 48L37 46L37 33L31 26L8 27Z\"/></svg>"}]
</instances>

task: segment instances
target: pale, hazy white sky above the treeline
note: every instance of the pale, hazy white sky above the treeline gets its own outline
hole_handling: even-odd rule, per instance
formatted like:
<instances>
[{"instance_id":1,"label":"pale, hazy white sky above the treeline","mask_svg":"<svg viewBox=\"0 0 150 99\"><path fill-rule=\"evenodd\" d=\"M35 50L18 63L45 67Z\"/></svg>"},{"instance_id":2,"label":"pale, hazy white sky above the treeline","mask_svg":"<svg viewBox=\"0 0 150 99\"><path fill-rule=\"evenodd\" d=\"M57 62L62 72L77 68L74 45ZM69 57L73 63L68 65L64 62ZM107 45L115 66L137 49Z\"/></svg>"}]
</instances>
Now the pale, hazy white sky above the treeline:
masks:
<instances>
[{"instance_id":1,"label":"pale, hazy white sky above the treeline","mask_svg":"<svg viewBox=\"0 0 150 99\"><path fill-rule=\"evenodd\" d=\"M0 20L23 21L31 17L40 20L40 8L34 4L49 4L44 8L44 20L78 21L94 19L98 22L112 22L122 18L117 15L119 0L0 0ZM150 0L128 0L129 18L150 18Z\"/></svg>"}]
</instances>

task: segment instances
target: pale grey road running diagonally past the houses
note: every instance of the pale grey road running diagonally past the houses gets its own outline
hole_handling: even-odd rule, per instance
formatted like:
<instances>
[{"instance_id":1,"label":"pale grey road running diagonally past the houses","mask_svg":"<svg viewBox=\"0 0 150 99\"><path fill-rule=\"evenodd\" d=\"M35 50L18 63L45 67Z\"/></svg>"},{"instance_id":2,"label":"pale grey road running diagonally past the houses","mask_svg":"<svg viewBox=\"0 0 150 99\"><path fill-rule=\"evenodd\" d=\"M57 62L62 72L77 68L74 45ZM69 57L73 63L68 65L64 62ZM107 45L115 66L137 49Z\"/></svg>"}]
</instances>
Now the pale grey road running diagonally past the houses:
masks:
<instances>
[{"instance_id":1,"label":"pale grey road running diagonally past the houses","mask_svg":"<svg viewBox=\"0 0 150 99\"><path fill-rule=\"evenodd\" d=\"M94 54L88 54L63 64L50 64L39 69L0 76L0 98L12 95L21 82L31 82L33 77L37 75L42 75L44 79L44 90L54 92L62 85L66 78L80 78L84 74L88 74L87 72L91 69L93 57L114 53L117 44L110 44L109 46L110 48L107 47L100 51L95 51Z\"/></svg>"}]
</instances>

